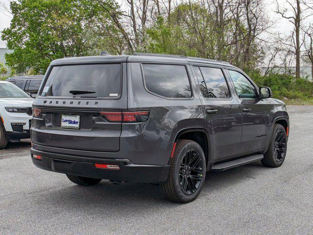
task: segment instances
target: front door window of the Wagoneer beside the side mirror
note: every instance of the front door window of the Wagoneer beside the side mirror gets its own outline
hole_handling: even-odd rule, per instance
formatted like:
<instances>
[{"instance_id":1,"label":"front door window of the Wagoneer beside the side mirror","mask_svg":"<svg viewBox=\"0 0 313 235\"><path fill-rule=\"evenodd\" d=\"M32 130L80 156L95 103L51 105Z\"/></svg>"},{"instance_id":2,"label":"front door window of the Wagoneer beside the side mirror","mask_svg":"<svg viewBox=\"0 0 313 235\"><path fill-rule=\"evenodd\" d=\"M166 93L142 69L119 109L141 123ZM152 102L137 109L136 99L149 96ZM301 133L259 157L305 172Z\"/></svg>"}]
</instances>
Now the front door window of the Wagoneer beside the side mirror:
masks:
<instances>
[{"instance_id":1,"label":"front door window of the Wagoneer beside the side mirror","mask_svg":"<svg viewBox=\"0 0 313 235\"><path fill-rule=\"evenodd\" d=\"M233 70L229 70L229 74L239 98L256 98L255 87L243 74Z\"/></svg>"}]
</instances>

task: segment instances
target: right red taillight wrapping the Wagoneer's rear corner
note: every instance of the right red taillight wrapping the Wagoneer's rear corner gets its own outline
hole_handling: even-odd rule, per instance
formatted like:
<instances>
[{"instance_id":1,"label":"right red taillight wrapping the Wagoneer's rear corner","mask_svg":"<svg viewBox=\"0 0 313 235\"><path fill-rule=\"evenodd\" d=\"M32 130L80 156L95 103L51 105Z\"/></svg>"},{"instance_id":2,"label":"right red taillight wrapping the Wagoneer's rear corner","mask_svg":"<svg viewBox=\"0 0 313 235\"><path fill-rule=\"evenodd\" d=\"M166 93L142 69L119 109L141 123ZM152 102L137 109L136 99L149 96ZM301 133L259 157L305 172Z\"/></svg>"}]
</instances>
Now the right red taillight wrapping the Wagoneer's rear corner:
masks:
<instances>
[{"instance_id":1,"label":"right red taillight wrapping the Wagoneer's rear corner","mask_svg":"<svg viewBox=\"0 0 313 235\"><path fill-rule=\"evenodd\" d=\"M105 111L99 115L109 122L144 122L149 118L150 111Z\"/></svg>"}]
</instances>

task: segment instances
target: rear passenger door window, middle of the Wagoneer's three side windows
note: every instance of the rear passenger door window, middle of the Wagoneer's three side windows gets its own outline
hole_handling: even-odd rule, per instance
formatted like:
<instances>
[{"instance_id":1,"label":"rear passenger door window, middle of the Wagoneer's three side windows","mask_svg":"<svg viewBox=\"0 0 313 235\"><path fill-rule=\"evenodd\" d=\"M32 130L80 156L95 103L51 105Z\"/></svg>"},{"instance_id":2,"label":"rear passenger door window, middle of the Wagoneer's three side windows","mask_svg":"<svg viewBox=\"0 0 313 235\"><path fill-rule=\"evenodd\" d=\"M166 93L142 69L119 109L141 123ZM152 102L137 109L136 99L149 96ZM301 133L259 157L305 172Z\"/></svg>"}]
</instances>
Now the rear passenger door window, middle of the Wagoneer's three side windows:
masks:
<instances>
[{"instance_id":1,"label":"rear passenger door window, middle of the Wagoneer's three side windows","mask_svg":"<svg viewBox=\"0 0 313 235\"><path fill-rule=\"evenodd\" d=\"M223 71L218 68L200 67L204 80L201 83L201 92L206 98L229 98L228 86ZM198 76L198 75L197 75ZM203 92L206 87L207 92Z\"/></svg>"}]
</instances>

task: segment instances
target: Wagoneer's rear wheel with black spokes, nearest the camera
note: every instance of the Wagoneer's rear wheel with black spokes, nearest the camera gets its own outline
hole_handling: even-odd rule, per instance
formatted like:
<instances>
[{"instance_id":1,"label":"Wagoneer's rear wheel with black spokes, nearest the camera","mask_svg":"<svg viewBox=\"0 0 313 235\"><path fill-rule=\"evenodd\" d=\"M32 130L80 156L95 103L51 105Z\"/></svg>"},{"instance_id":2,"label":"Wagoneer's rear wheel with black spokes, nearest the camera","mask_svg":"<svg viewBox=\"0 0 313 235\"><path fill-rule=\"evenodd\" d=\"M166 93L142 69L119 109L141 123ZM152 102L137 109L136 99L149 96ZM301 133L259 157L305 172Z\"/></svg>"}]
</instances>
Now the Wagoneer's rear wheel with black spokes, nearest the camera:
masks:
<instances>
[{"instance_id":1,"label":"Wagoneer's rear wheel with black spokes, nearest the camera","mask_svg":"<svg viewBox=\"0 0 313 235\"><path fill-rule=\"evenodd\" d=\"M167 181L161 184L162 192L171 201L191 202L201 192L205 173L206 163L201 146L195 141L179 140Z\"/></svg>"}]
</instances>

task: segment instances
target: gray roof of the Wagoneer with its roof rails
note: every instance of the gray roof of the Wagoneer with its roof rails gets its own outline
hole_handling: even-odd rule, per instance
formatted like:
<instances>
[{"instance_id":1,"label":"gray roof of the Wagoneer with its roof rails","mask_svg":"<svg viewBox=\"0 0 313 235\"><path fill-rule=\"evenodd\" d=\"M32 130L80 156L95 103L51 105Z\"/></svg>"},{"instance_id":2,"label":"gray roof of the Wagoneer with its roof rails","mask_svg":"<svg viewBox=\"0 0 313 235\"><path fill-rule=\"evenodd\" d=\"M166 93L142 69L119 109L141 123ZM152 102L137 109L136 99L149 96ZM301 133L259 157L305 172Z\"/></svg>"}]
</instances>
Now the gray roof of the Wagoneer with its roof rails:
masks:
<instances>
[{"instance_id":1,"label":"gray roof of the Wagoneer with its roof rails","mask_svg":"<svg viewBox=\"0 0 313 235\"><path fill-rule=\"evenodd\" d=\"M50 65L60 64L82 64L82 63L123 63L123 62L160 62L174 64L214 64L220 66L233 67L225 61L204 59L198 57L188 57L180 55L153 54L153 53L134 53L133 55L101 55L101 56L84 56L84 57L67 57L53 60Z\"/></svg>"}]
</instances>

